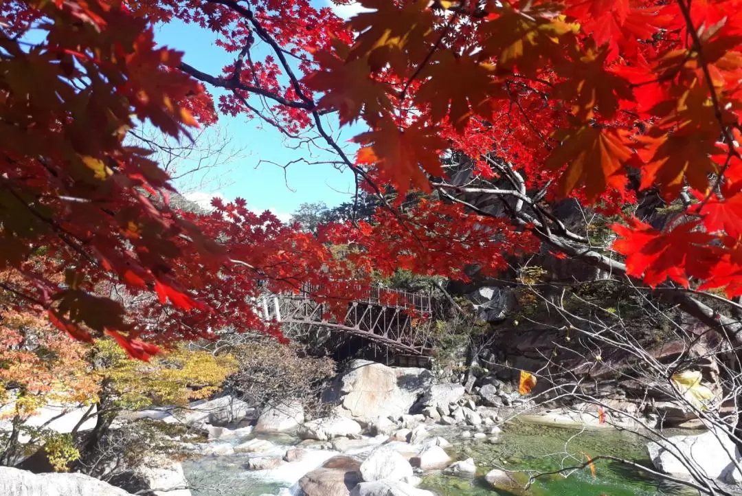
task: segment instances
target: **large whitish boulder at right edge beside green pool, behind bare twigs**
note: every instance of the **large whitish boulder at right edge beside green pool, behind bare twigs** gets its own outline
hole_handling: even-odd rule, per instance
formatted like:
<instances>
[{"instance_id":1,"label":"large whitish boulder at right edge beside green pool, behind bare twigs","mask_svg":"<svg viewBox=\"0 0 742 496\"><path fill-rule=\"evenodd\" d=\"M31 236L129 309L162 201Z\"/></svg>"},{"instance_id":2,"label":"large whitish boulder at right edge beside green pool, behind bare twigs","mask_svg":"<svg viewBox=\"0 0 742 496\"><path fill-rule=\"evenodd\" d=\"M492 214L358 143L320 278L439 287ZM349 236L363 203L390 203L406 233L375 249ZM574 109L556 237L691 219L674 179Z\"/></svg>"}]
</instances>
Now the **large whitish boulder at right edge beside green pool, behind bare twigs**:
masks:
<instances>
[{"instance_id":1,"label":"large whitish boulder at right edge beside green pool, behind bare twigs","mask_svg":"<svg viewBox=\"0 0 742 496\"><path fill-rule=\"evenodd\" d=\"M647 444L649 457L657 470L666 474L690 474L687 463L675 456L672 447L692 460L697 469L710 479L727 483L742 480L742 474L729 457L732 454L737 463L742 463L739 449L720 429L695 436L671 436L666 441Z\"/></svg>"}]
</instances>

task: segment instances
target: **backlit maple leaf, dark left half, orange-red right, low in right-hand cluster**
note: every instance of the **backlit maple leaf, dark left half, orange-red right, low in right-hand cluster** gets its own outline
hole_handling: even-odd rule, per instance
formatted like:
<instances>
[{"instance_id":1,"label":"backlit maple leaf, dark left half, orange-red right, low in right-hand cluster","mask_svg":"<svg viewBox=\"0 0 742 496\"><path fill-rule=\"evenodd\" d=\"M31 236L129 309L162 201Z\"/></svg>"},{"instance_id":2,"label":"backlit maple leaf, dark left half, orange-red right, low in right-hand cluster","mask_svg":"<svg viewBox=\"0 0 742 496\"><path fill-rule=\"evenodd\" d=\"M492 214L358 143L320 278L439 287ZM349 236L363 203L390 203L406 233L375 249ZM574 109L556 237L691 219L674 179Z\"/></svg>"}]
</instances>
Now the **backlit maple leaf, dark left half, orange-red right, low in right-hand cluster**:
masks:
<instances>
[{"instance_id":1,"label":"backlit maple leaf, dark left half, orange-red right, low in right-hand cluster","mask_svg":"<svg viewBox=\"0 0 742 496\"><path fill-rule=\"evenodd\" d=\"M546 160L551 169L568 164L559 179L559 193L567 196L578 185L585 185L585 196L594 201L609 185L623 189L626 176L622 162L631 157L626 146L626 132L608 128L581 128L557 131L554 138L562 142Z\"/></svg>"}]
</instances>

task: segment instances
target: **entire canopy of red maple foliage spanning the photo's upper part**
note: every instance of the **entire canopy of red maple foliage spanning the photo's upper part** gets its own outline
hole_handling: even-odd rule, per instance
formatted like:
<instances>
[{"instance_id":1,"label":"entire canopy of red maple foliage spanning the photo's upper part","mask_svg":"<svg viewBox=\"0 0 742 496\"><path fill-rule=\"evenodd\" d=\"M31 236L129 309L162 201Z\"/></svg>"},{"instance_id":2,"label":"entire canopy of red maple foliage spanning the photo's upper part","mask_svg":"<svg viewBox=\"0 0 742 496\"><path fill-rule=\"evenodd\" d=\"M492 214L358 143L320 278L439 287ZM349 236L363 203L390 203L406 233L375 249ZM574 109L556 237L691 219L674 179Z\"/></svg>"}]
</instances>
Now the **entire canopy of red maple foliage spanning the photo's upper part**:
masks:
<instances>
[{"instance_id":1,"label":"entire canopy of red maple foliage spanning the photo's upper part","mask_svg":"<svg viewBox=\"0 0 742 496\"><path fill-rule=\"evenodd\" d=\"M611 214L657 191L683 211L662 230L614 227L627 274L742 294L742 1L359 3L348 22L308 0L0 4L4 291L78 340L108 335L146 360L158 348L142 337L279 336L252 311L264 280L329 288L316 297L341 308L374 271L465 279L466 264L492 274L538 248L533 222L434 196L320 237L242 200L175 211L168 175L125 136L149 122L188 139L220 112L287 139L314 130L305 142L324 140L376 194L433 192L451 151L481 178L502 179L495 155L524 189ZM209 74L158 47L154 24L174 20L209 30L234 62ZM329 113L365 126L355 160Z\"/></svg>"}]
</instances>

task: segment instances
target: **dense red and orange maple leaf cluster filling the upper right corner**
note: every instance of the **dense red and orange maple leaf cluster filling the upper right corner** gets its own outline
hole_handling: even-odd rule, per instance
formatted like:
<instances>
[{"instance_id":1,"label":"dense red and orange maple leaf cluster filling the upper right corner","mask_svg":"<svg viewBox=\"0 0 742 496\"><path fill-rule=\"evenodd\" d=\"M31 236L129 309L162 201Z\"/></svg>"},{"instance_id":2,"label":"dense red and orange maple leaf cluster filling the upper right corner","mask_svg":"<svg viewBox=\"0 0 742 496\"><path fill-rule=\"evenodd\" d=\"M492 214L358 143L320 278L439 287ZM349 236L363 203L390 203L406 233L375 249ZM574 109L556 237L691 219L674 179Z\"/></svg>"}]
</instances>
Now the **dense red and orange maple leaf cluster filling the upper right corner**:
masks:
<instances>
[{"instance_id":1,"label":"dense red and orange maple leaf cluster filling the upper right corner","mask_svg":"<svg viewBox=\"0 0 742 496\"><path fill-rule=\"evenodd\" d=\"M355 39L315 53L305 79L321 108L370 128L359 167L430 191L443 151L486 179L494 153L528 188L611 214L636 201L637 176L640 191L690 201L663 231L615 226L628 275L742 294L741 2L360 4Z\"/></svg>"}]
</instances>

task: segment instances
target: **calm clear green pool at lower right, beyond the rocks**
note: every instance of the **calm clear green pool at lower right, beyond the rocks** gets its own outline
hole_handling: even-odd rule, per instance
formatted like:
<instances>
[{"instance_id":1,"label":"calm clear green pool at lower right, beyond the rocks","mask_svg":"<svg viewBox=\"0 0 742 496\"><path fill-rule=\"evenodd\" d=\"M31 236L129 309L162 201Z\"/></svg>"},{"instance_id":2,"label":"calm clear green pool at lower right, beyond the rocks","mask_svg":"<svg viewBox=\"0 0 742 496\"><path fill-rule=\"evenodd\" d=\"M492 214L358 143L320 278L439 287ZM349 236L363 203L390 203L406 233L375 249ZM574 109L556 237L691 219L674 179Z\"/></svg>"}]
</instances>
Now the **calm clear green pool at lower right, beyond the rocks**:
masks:
<instances>
[{"instance_id":1,"label":"calm clear green pool at lower right, beyond the rocks","mask_svg":"<svg viewBox=\"0 0 742 496\"><path fill-rule=\"evenodd\" d=\"M686 432L686 434L688 434ZM445 437L445 436L444 436ZM454 446L447 451L458 460L472 457L476 477L453 477L433 474L424 477L421 487L439 496L644 496L694 495L683 486L658 480L647 472L610 460L597 460L595 474L589 467L574 472L538 477L528 490L518 488L494 490L484 480L491 469L533 472L514 473L523 486L529 474L554 472L579 466L586 455L613 455L651 467L646 453L646 440L637 434L613 429L576 431L551 426L513 423L499 434L501 443L493 445L475 440L450 439Z\"/></svg>"}]
</instances>

